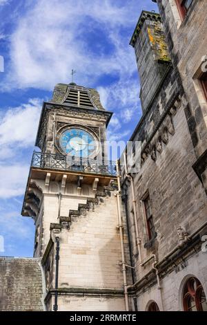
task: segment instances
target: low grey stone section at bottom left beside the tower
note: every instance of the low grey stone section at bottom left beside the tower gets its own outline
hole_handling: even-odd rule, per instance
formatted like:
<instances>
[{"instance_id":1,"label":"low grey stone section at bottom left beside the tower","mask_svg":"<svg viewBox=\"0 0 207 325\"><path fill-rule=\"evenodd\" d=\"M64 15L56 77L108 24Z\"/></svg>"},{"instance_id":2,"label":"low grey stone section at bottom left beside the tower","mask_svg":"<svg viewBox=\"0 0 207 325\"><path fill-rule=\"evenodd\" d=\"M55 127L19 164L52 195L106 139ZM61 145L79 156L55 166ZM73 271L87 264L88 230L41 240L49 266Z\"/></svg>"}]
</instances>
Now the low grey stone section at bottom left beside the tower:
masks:
<instances>
[{"instance_id":1,"label":"low grey stone section at bottom left beside the tower","mask_svg":"<svg viewBox=\"0 0 207 325\"><path fill-rule=\"evenodd\" d=\"M43 311L40 259L0 257L0 310Z\"/></svg>"}]
</instances>

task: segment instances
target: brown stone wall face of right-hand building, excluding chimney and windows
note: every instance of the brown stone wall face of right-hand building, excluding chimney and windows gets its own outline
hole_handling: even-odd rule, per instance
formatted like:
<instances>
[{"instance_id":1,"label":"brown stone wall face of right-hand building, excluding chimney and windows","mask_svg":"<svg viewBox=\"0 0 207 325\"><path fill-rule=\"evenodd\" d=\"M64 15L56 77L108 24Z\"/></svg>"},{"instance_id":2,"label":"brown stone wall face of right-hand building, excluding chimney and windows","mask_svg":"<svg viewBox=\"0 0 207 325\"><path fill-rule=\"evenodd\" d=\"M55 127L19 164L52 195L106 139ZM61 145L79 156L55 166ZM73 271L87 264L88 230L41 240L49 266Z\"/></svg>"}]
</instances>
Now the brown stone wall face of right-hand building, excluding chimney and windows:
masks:
<instances>
[{"instance_id":1,"label":"brown stone wall face of right-hand building, excluding chimney and windows","mask_svg":"<svg viewBox=\"0 0 207 325\"><path fill-rule=\"evenodd\" d=\"M206 37L202 37L206 30L206 7L204 1L193 1L186 19L181 22L174 0L157 2L172 66L131 138L141 141L141 169L132 174L141 257L135 241L132 189L124 177L122 187L128 197L132 265L137 281L133 290L138 310L147 310L150 301L156 301L161 310L183 310L180 290L186 279L190 275L197 277L205 293L207 281L206 254L201 252L199 236L199 228L206 225L206 192L193 169L197 158L205 151L206 142L206 102L204 97L201 99L201 90L195 80L201 56L206 54ZM144 207L148 194L156 232L152 239L148 236ZM187 238L184 247L180 245L180 229ZM193 239L197 230L197 239ZM174 250L177 257L166 258ZM157 259L161 290L157 289L152 254ZM162 263L166 263L164 269Z\"/></svg>"}]
</instances>

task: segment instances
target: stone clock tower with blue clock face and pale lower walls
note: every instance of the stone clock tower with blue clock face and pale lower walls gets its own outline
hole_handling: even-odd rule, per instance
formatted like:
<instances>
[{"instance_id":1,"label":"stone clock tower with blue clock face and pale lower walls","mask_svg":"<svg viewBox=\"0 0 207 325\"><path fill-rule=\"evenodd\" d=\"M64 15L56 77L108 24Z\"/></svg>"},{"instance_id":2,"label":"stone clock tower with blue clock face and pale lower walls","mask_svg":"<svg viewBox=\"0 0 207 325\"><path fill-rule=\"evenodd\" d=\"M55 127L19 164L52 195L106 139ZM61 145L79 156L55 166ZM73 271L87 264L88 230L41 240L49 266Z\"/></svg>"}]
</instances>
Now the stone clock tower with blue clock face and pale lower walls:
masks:
<instances>
[{"instance_id":1,"label":"stone clock tower with blue clock face and pale lower walls","mask_svg":"<svg viewBox=\"0 0 207 325\"><path fill-rule=\"evenodd\" d=\"M95 89L73 82L43 103L22 215L34 219L46 310L128 308L128 239L106 147L111 116Z\"/></svg>"}]
</instances>

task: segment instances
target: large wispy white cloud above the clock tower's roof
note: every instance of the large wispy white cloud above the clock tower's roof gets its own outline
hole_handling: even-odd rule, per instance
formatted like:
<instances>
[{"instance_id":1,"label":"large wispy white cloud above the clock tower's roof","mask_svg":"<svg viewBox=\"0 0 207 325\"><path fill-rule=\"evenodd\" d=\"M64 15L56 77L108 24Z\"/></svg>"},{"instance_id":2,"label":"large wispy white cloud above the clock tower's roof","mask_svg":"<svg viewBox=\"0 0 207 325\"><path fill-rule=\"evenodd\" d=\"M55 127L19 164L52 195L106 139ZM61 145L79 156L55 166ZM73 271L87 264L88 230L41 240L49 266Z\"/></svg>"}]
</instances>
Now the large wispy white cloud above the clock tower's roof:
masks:
<instances>
[{"instance_id":1,"label":"large wispy white cloud above the clock tower's roof","mask_svg":"<svg viewBox=\"0 0 207 325\"><path fill-rule=\"evenodd\" d=\"M121 27L135 26L133 6L111 0L37 0L19 18L10 40L10 73L7 87L52 89L57 82L69 82L77 68L77 80L95 82L101 74L128 74L135 71L135 57ZM114 50L97 55L86 33L99 28Z\"/></svg>"}]
</instances>

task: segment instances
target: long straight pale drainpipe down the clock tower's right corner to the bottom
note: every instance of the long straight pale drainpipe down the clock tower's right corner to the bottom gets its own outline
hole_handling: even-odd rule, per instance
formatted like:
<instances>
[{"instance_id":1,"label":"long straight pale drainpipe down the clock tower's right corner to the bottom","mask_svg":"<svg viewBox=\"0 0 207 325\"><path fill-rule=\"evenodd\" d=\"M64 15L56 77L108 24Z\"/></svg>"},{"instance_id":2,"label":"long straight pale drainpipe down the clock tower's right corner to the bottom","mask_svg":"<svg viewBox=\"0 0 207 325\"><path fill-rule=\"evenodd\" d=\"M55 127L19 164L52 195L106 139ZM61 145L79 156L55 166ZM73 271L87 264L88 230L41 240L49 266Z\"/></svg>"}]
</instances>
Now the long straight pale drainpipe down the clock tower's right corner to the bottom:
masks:
<instances>
[{"instance_id":1,"label":"long straight pale drainpipe down the clock tower's right corner to the bottom","mask_svg":"<svg viewBox=\"0 0 207 325\"><path fill-rule=\"evenodd\" d=\"M126 279L126 261L124 256L124 233L123 233L123 223L121 219L121 184L120 184L120 174L119 174L119 163L117 160L117 181L118 181L118 191L115 196L117 197L117 212L118 212L118 219L119 219L119 234L120 234L120 243L121 243L121 264L122 264L122 272L124 277L124 298L126 304L126 311L129 311L128 306L128 286L127 286L127 279Z\"/></svg>"}]
</instances>

